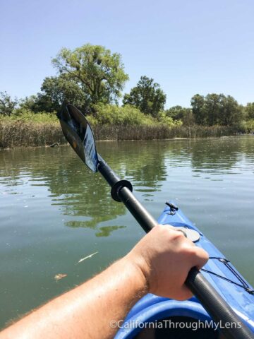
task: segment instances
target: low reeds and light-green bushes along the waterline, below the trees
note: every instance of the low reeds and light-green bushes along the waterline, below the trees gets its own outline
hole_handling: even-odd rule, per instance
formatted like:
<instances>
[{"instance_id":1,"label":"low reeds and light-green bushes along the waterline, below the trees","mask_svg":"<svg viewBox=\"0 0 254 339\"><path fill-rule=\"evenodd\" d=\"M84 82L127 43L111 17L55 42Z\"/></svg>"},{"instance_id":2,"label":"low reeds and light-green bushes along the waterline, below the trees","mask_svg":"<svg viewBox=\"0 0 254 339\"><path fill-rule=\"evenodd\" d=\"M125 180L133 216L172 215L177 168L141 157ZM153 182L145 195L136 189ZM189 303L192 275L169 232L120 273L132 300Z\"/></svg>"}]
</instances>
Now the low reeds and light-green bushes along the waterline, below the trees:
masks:
<instances>
[{"instance_id":1,"label":"low reeds and light-green bushes along the waterline, below the trees","mask_svg":"<svg viewBox=\"0 0 254 339\"><path fill-rule=\"evenodd\" d=\"M243 125L186 124L164 112L154 118L130 105L99 105L87 119L97 141L213 138L251 131ZM17 109L16 114L0 118L0 148L49 146L54 143L66 145L56 112L35 114L29 109L21 109L21 112Z\"/></svg>"}]
</instances>

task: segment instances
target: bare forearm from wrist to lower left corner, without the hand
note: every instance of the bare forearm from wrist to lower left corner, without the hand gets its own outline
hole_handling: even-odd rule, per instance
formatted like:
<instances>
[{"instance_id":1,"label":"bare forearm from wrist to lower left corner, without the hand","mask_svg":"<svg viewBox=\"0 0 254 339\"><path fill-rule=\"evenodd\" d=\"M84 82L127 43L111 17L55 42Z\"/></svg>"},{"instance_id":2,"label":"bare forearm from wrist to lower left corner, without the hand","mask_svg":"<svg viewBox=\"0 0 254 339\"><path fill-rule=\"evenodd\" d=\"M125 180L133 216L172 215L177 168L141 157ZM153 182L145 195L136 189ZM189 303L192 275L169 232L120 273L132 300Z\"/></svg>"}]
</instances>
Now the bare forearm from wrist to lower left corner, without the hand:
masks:
<instances>
[{"instance_id":1,"label":"bare forearm from wrist to lower left corner, without the hand","mask_svg":"<svg viewBox=\"0 0 254 339\"><path fill-rule=\"evenodd\" d=\"M146 292L143 273L122 258L7 328L0 338L113 338L117 329L111 321L124 319Z\"/></svg>"}]
</instances>

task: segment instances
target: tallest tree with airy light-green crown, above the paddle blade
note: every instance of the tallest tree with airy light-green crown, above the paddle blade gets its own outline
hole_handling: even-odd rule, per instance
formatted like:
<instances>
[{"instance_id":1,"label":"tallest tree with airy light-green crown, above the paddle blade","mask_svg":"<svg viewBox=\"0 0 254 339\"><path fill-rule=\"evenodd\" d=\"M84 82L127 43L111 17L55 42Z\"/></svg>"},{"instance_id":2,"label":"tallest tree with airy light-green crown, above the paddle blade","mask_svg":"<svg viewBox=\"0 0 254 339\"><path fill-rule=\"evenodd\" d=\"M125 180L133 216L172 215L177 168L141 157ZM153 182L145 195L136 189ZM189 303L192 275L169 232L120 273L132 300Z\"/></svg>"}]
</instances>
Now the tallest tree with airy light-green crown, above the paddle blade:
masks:
<instances>
[{"instance_id":1,"label":"tallest tree with airy light-green crown, above the paddle blade","mask_svg":"<svg viewBox=\"0 0 254 339\"><path fill-rule=\"evenodd\" d=\"M84 93L86 105L117 102L128 80L121 55L111 54L99 45L84 44L74 50L63 48L52 63L60 76L68 78Z\"/></svg>"}]
</instances>

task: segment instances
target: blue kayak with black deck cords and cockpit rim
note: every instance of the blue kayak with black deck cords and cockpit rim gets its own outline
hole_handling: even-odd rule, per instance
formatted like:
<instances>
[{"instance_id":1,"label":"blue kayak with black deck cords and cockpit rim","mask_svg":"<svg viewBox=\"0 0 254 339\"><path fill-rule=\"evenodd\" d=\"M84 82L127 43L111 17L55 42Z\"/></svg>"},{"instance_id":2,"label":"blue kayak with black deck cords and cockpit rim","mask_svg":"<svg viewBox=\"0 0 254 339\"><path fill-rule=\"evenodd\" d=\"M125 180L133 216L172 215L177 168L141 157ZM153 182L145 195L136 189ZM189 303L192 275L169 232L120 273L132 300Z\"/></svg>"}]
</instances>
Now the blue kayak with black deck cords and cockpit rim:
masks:
<instances>
[{"instance_id":1,"label":"blue kayak with black deck cords and cockpit rim","mask_svg":"<svg viewBox=\"0 0 254 339\"><path fill-rule=\"evenodd\" d=\"M196 246L205 249L210 256L202 268L203 275L253 331L254 338L253 287L174 203L167 203L158 222L172 225L185 234L190 233L191 237L194 234ZM218 326L195 297L179 302L148 294L119 323L120 329L115 338L221 338Z\"/></svg>"}]
</instances>

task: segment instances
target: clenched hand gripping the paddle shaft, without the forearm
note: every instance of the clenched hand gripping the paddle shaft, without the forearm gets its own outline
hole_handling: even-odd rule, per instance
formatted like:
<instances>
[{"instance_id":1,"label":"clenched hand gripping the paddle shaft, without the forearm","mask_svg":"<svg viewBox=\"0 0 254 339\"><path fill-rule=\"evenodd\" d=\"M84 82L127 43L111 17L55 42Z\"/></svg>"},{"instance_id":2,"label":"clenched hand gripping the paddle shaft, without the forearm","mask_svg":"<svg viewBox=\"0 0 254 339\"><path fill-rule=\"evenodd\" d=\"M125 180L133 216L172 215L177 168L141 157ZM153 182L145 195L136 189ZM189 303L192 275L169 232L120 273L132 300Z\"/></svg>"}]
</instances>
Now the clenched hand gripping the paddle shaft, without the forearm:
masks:
<instances>
[{"instance_id":1,"label":"clenched hand gripping the paddle shaft, without the forearm","mask_svg":"<svg viewBox=\"0 0 254 339\"><path fill-rule=\"evenodd\" d=\"M127 254L145 276L148 292L176 300L192 296L184 285L191 268L200 269L208 254L182 232L169 225L157 225Z\"/></svg>"}]
</instances>

